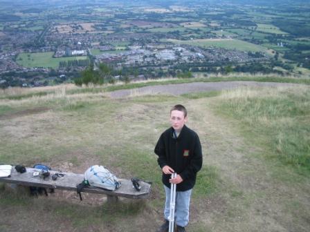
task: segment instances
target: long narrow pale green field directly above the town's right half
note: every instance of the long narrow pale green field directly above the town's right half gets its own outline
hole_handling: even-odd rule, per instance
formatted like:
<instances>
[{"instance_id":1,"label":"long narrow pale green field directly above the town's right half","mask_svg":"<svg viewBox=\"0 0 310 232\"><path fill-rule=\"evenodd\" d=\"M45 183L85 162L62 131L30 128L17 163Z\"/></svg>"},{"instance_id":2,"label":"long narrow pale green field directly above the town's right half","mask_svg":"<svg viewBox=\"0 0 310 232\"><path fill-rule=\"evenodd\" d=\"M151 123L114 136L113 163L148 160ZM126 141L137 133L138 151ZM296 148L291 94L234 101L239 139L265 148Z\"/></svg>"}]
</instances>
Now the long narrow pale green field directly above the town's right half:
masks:
<instances>
[{"instance_id":1,"label":"long narrow pale green field directly above the town's right half","mask_svg":"<svg viewBox=\"0 0 310 232\"><path fill-rule=\"evenodd\" d=\"M203 48L225 48L236 49L250 52L266 52L266 48L258 46L253 43L241 41L239 39L191 39L191 40L177 40L177 39L161 39L163 42L171 42L176 44L189 44L192 46L199 46Z\"/></svg>"}]
</instances>

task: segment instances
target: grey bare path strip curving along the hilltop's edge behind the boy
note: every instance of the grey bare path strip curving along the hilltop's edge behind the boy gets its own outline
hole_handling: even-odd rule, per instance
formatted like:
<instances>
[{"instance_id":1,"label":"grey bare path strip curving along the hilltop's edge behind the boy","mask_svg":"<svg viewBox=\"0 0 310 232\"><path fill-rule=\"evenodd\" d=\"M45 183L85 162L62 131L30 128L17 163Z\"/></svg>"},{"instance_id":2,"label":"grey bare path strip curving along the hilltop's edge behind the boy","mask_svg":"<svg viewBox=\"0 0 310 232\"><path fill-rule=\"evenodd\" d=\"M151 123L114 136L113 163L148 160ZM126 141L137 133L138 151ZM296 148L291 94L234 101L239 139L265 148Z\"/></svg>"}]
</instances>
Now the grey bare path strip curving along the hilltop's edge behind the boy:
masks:
<instances>
[{"instance_id":1,"label":"grey bare path strip curving along the hilltop's edge behind the boy","mask_svg":"<svg viewBox=\"0 0 310 232\"><path fill-rule=\"evenodd\" d=\"M111 98L136 97L138 95L156 95L156 94L182 95L185 93L198 93L198 92L204 92L204 91L226 90L230 88L237 88L240 86L277 87L277 86L296 86L296 85L298 84L257 82L257 81L192 82L192 83L185 83L185 84L145 86L145 87L134 88L134 89L129 89L129 90L116 90L116 91L107 93L107 95Z\"/></svg>"}]
</instances>

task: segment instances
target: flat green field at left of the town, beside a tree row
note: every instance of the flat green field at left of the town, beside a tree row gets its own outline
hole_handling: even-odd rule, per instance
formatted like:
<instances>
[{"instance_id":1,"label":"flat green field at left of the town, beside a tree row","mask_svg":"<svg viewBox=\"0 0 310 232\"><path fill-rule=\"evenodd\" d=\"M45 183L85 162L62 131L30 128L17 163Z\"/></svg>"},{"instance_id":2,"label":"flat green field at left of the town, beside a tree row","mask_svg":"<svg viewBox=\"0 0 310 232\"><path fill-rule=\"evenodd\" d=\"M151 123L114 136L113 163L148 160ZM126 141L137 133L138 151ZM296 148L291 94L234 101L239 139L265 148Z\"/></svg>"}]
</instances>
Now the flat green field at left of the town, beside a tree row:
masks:
<instances>
[{"instance_id":1,"label":"flat green field at left of the town, beside a tree row","mask_svg":"<svg viewBox=\"0 0 310 232\"><path fill-rule=\"evenodd\" d=\"M87 59L85 56L53 58L53 55L54 52L19 53L16 61L20 66L28 68L58 68L60 61Z\"/></svg>"}]
</instances>

